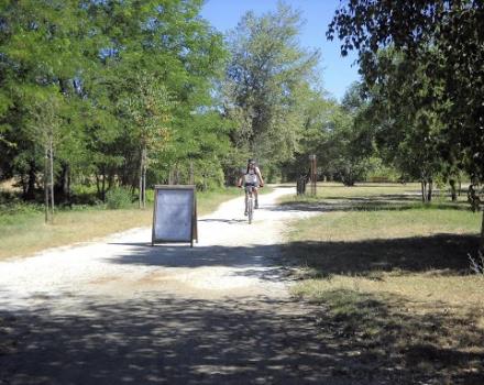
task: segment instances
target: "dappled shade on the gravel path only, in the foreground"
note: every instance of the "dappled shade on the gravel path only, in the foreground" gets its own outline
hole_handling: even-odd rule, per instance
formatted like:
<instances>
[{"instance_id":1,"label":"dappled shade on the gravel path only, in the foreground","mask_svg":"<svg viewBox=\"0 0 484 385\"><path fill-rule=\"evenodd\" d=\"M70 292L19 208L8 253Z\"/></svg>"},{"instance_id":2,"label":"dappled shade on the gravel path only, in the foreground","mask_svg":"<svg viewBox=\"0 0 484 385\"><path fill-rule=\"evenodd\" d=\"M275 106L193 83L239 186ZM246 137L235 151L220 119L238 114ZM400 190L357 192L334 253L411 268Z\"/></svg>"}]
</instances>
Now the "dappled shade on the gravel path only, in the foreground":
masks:
<instances>
[{"instance_id":1,"label":"dappled shade on the gravel path only, in the foreground","mask_svg":"<svg viewBox=\"0 0 484 385\"><path fill-rule=\"evenodd\" d=\"M321 383L341 360L337 346L318 343L315 317L284 301L154 296L81 305L72 316L0 312L16 337L1 352L0 383Z\"/></svg>"}]
</instances>

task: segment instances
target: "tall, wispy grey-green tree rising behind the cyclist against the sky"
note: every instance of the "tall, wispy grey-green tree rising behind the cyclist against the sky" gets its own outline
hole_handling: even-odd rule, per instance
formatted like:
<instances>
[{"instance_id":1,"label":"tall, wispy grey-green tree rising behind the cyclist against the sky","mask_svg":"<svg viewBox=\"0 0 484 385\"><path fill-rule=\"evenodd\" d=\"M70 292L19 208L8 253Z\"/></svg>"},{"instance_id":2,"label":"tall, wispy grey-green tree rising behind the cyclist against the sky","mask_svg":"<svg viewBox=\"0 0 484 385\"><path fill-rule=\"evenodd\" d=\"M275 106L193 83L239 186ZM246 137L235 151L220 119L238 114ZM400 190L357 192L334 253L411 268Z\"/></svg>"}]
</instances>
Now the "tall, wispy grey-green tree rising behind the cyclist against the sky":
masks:
<instances>
[{"instance_id":1,"label":"tall, wispy grey-green tree rising behind the cyclist against the sky","mask_svg":"<svg viewBox=\"0 0 484 385\"><path fill-rule=\"evenodd\" d=\"M304 125L301 100L318 52L299 46L300 14L279 4L260 18L248 12L229 36L224 113L232 141L261 163L292 158Z\"/></svg>"}]
</instances>

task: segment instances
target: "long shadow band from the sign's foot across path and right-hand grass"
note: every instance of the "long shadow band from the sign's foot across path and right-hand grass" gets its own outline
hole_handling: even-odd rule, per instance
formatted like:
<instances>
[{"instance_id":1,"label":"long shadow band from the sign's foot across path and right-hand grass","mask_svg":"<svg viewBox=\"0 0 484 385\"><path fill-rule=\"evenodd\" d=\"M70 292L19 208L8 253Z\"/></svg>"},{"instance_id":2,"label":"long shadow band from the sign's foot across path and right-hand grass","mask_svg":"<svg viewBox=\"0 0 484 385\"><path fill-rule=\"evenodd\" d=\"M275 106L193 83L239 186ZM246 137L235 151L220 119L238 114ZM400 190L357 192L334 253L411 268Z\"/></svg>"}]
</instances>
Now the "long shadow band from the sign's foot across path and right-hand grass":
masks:
<instances>
[{"instance_id":1,"label":"long shadow band from the sign's foot across path and right-hand grass","mask_svg":"<svg viewBox=\"0 0 484 385\"><path fill-rule=\"evenodd\" d=\"M374 276L375 273L435 272L470 274L468 253L479 246L477 235L436 234L402 239L331 242L305 241L273 245L156 245L111 243L129 246L110 257L114 264L160 267L226 266L244 268L244 274L279 270L284 265L308 265L321 275ZM284 261L280 255L283 255ZM271 276L272 273L267 273Z\"/></svg>"}]
</instances>

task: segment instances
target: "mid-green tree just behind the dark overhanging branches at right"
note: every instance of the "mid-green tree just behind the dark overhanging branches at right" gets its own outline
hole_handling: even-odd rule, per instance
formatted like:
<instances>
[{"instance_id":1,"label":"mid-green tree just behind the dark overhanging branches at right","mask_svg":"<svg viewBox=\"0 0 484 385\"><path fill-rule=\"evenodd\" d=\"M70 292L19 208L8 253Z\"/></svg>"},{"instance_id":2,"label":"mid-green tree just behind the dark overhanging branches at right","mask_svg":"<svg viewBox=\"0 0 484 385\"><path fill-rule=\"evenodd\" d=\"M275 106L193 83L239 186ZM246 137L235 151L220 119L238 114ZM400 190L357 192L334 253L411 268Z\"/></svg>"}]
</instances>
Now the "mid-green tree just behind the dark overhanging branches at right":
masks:
<instances>
[{"instance_id":1,"label":"mid-green tree just behind the dark overhanging branches at right","mask_svg":"<svg viewBox=\"0 0 484 385\"><path fill-rule=\"evenodd\" d=\"M433 179L448 162L442 155L441 87L431 85L421 65L392 47L378 52L377 66L382 70L373 85L363 87L365 120L386 163L420 180L422 201L430 201Z\"/></svg>"}]
</instances>

